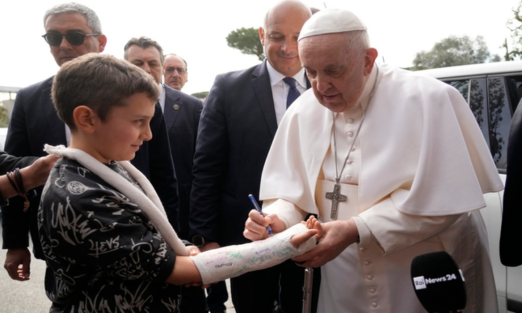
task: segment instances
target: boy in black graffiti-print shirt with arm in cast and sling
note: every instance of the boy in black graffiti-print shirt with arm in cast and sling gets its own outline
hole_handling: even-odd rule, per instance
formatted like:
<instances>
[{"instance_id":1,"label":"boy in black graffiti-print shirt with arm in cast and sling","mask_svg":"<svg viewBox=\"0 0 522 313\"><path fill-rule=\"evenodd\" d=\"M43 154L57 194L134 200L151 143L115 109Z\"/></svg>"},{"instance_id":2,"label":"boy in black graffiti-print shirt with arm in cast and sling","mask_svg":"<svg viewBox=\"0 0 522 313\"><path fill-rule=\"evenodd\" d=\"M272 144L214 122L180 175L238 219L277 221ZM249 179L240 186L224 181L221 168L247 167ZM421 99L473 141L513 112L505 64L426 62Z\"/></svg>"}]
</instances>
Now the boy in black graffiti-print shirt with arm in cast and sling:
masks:
<instances>
[{"instance_id":1,"label":"boy in black graffiti-print shirt with arm in cast and sling","mask_svg":"<svg viewBox=\"0 0 522 313\"><path fill-rule=\"evenodd\" d=\"M54 106L72 138L69 148L46 147L63 156L38 211L50 312L178 312L176 284L209 284L315 246L318 231L301 225L262 243L199 255L191 247L189 257L154 188L128 162L152 137L158 93L139 67L100 54L54 78Z\"/></svg>"}]
</instances>

